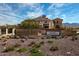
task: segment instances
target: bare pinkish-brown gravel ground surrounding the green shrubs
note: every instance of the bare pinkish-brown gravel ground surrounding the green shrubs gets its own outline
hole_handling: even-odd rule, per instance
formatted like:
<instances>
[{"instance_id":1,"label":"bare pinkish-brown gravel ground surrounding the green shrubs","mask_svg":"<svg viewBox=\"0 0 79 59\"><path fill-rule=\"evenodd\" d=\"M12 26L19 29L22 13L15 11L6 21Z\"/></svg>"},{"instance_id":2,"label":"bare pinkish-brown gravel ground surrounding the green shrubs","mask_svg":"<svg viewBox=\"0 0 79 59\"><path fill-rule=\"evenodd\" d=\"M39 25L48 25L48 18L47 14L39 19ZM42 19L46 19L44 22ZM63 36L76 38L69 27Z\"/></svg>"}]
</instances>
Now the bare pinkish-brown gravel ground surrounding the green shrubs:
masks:
<instances>
[{"instance_id":1,"label":"bare pinkish-brown gravel ground surrounding the green shrubs","mask_svg":"<svg viewBox=\"0 0 79 59\"><path fill-rule=\"evenodd\" d=\"M71 40L71 37L62 38L62 39L6 39L0 40L0 56L31 56L29 49L32 47L29 46L31 42L35 42L39 44L40 42L44 42L41 44L39 50L44 54L44 56L79 56L79 36L75 41ZM48 43L48 41L52 41ZM6 47L12 47L16 44L20 46L15 47L16 50L18 48L29 48L25 52L17 52L16 50L3 52ZM50 51L50 48L58 47L56 51Z\"/></svg>"}]
</instances>

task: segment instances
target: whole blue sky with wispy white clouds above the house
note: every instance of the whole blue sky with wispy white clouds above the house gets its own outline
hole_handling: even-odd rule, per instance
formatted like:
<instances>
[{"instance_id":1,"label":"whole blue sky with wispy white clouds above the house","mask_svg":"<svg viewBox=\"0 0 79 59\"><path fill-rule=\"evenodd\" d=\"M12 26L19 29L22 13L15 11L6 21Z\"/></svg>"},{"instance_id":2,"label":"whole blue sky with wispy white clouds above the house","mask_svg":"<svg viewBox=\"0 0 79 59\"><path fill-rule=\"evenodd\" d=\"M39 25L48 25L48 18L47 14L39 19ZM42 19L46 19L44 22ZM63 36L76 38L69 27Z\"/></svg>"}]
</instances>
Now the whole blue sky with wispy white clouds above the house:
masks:
<instances>
[{"instance_id":1,"label":"whole blue sky with wispy white clouds above the house","mask_svg":"<svg viewBox=\"0 0 79 59\"><path fill-rule=\"evenodd\" d=\"M25 19L46 15L63 19L63 23L79 23L79 3L0 3L0 25L19 24Z\"/></svg>"}]
</instances>

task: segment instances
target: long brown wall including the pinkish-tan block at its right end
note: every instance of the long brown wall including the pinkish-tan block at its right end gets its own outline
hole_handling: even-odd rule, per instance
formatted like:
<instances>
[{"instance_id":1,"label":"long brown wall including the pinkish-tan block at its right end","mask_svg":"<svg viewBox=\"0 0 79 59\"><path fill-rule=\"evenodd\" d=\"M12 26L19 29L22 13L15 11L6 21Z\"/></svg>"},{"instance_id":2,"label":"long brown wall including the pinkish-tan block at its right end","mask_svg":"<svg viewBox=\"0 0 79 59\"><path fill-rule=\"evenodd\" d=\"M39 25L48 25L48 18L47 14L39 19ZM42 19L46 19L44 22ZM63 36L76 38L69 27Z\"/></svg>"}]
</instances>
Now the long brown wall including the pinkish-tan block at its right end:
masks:
<instances>
[{"instance_id":1,"label":"long brown wall including the pinkish-tan block at its right end","mask_svg":"<svg viewBox=\"0 0 79 59\"><path fill-rule=\"evenodd\" d=\"M17 36L41 36L41 35L45 35L46 30L42 30L42 29L16 29L16 35Z\"/></svg>"}]
</instances>

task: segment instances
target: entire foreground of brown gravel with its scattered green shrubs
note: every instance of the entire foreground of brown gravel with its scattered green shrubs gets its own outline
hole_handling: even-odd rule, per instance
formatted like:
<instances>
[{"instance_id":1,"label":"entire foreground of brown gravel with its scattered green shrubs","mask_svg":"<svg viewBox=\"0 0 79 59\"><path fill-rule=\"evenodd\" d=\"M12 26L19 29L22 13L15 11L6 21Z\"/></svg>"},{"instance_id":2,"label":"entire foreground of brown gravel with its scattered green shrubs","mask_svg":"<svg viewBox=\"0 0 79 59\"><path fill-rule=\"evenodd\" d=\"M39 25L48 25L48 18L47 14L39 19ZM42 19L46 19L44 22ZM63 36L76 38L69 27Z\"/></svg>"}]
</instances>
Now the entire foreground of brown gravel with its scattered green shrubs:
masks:
<instances>
[{"instance_id":1,"label":"entire foreground of brown gravel with its scattered green shrubs","mask_svg":"<svg viewBox=\"0 0 79 59\"><path fill-rule=\"evenodd\" d=\"M1 56L78 56L79 35L61 39L3 39L0 40Z\"/></svg>"}]
</instances>

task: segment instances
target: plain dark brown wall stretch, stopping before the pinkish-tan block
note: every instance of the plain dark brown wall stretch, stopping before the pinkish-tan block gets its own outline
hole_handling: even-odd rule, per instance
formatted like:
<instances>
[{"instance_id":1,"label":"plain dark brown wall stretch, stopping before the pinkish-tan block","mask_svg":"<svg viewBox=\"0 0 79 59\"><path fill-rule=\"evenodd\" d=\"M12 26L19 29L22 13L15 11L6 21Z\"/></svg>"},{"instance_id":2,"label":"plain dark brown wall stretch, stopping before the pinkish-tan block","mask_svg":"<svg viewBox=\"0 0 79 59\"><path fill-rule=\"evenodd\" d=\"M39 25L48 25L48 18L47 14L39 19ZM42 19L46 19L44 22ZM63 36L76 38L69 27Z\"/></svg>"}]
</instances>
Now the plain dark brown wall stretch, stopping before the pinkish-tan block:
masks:
<instances>
[{"instance_id":1,"label":"plain dark brown wall stretch, stopping before the pinkish-tan block","mask_svg":"<svg viewBox=\"0 0 79 59\"><path fill-rule=\"evenodd\" d=\"M16 35L18 36L28 36L28 35L37 35L39 30L37 29L16 29Z\"/></svg>"}]
</instances>

